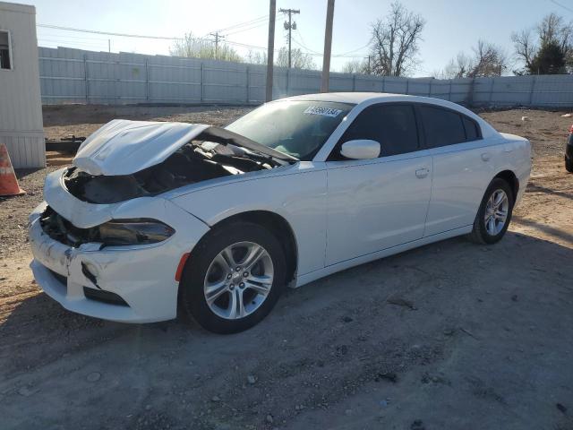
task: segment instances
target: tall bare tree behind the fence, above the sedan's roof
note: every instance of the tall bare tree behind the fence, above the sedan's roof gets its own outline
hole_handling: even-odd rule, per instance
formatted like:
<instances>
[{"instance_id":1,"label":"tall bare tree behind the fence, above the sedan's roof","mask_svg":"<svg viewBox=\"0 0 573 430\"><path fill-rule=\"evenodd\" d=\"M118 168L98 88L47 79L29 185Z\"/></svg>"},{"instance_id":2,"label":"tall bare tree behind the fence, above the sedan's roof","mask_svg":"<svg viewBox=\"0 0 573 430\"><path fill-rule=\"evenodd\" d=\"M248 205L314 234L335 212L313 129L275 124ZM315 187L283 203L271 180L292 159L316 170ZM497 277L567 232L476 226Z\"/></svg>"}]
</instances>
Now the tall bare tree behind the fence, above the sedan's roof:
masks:
<instances>
[{"instance_id":1,"label":"tall bare tree behind the fence, above the sedan's roof","mask_svg":"<svg viewBox=\"0 0 573 430\"><path fill-rule=\"evenodd\" d=\"M389 15L372 24L372 73L404 76L417 64L425 21L394 2Z\"/></svg>"}]
</instances>

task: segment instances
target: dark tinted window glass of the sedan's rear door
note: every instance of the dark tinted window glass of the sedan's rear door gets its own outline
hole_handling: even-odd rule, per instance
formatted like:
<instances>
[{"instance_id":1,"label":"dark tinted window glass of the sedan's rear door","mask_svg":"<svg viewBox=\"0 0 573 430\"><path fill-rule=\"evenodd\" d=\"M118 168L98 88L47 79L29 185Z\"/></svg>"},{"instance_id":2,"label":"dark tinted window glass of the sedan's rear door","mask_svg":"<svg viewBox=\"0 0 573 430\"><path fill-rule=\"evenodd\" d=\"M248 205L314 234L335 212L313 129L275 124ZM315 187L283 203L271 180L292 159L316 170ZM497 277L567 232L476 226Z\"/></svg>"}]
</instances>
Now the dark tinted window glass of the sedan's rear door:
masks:
<instances>
[{"instance_id":1,"label":"dark tinted window glass of the sedan's rear door","mask_svg":"<svg viewBox=\"0 0 573 430\"><path fill-rule=\"evenodd\" d=\"M466 142L462 116L440 107L420 106L428 148Z\"/></svg>"}]
</instances>

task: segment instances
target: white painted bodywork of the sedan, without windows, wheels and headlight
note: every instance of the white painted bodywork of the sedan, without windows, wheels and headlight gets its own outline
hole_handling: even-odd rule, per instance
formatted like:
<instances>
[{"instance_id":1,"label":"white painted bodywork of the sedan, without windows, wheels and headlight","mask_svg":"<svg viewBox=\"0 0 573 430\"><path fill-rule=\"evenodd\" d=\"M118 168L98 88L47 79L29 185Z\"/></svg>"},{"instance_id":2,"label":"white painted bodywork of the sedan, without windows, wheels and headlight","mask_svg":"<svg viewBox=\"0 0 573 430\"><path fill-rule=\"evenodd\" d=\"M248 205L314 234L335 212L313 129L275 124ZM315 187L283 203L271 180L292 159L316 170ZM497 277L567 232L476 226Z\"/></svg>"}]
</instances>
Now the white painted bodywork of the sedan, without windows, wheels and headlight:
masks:
<instances>
[{"instance_id":1,"label":"white painted bodywork of the sedan, without windows, wheels and headlight","mask_svg":"<svg viewBox=\"0 0 573 430\"><path fill-rule=\"evenodd\" d=\"M312 161L217 177L110 204L74 197L64 186L64 170L48 175L47 204L77 228L92 228L111 219L149 218L166 223L175 234L153 245L100 249L101 244L87 243L73 248L50 238L40 227L44 203L30 215L31 268L38 285L81 314L133 323L167 320L176 315L175 271L182 257L192 254L201 237L229 217L267 211L286 220L295 237L292 285L297 287L363 262L469 233L486 187L502 171L517 176L517 202L525 192L531 169L529 142L498 133L464 107L438 99L376 93L291 99L356 104ZM457 110L480 125L483 139L379 159L327 161L364 107L390 102L432 103ZM91 175L129 175L167 159L208 127L112 122L86 140L73 164ZM97 271L98 286L83 274L82 263ZM56 280L54 273L67 277L67 285ZM89 300L83 295L84 287L114 292L129 306Z\"/></svg>"}]
</instances>

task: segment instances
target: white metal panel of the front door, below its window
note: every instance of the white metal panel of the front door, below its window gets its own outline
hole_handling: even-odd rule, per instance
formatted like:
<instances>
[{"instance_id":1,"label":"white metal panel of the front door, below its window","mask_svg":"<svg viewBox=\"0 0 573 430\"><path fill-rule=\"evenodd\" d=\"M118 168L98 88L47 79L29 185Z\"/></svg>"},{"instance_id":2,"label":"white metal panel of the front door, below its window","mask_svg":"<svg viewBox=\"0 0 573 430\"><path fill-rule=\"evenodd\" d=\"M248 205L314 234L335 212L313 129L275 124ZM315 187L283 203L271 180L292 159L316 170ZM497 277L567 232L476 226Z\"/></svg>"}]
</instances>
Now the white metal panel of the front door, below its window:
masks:
<instances>
[{"instance_id":1,"label":"white metal panel of the front door, below its window","mask_svg":"<svg viewBox=\"0 0 573 430\"><path fill-rule=\"evenodd\" d=\"M327 167L327 265L423 236L432 192L432 157L427 150L330 161Z\"/></svg>"}]
</instances>

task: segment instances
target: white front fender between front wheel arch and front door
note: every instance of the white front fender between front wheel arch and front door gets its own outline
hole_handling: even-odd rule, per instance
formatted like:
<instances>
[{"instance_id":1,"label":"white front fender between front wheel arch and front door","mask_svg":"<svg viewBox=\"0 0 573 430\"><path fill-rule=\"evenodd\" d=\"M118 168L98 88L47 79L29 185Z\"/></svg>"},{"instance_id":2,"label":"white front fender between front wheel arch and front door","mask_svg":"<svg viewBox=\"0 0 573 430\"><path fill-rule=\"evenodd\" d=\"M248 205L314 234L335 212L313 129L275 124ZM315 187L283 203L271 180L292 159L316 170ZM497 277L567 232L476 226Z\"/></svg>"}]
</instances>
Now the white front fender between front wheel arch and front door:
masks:
<instances>
[{"instance_id":1,"label":"white front fender between front wheel arch and front door","mask_svg":"<svg viewBox=\"0 0 573 430\"><path fill-rule=\"evenodd\" d=\"M324 164L304 161L265 172L269 175L265 180L239 178L177 196L173 202L209 226L248 211L277 213L287 220L295 235L298 273L316 271L324 267L326 244ZM218 198L214 199L214 194Z\"/></svg>"}]
</instances>

